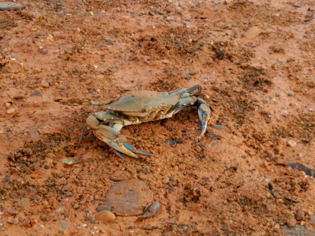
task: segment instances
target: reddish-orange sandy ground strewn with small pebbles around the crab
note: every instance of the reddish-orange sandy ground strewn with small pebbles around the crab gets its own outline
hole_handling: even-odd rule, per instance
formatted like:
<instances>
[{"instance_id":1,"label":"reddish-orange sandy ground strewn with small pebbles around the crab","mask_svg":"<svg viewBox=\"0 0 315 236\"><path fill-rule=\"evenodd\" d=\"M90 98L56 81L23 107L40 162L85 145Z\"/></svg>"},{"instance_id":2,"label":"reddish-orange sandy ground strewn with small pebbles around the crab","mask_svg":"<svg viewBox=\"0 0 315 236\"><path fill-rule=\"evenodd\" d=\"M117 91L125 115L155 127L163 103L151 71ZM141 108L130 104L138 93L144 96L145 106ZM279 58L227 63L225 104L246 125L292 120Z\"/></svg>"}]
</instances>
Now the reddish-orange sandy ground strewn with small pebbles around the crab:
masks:
<instances>
[{"instance_id":1,"label":"reddish-orange sandy ground strewn with small pebbles around the crab","mask_svg":"<svg viewBox=\"0 0 315 236\"><path fill-rule=\"evenodd\" d=\"M275 165L315 169L314 0L18 2L0 12L0 235L315 235L314 179ZM152 156L77 148L99 108L63 101L195 84L204 137L192 108L123 128ZM154 216L95 220L116 171Z\"/></svg>"}]
</instances>

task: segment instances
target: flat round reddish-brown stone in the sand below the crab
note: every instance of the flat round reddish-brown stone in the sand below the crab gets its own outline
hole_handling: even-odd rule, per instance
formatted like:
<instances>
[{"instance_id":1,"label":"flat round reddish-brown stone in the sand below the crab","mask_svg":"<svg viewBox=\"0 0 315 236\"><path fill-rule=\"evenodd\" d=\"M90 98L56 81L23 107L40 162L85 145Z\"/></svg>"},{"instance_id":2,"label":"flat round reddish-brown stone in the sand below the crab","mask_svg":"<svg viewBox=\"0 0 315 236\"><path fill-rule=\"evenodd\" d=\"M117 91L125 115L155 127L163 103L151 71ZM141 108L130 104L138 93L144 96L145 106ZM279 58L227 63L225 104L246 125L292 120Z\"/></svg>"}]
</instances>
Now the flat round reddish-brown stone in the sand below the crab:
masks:
<instances>
[{"instance_id":1,"label":"flat round reddish-brown stone in the sand below the crab","mask_svg":"<svg viewBox=\"0 0 315 236\"><path fill-rule=\"evenodd\" d=\"M138 179L127 179L115 183L105 197L105 205L111 206L116 215L141 215L152 201L153 193L148 185Z\"/></svg>"}]
</instances>

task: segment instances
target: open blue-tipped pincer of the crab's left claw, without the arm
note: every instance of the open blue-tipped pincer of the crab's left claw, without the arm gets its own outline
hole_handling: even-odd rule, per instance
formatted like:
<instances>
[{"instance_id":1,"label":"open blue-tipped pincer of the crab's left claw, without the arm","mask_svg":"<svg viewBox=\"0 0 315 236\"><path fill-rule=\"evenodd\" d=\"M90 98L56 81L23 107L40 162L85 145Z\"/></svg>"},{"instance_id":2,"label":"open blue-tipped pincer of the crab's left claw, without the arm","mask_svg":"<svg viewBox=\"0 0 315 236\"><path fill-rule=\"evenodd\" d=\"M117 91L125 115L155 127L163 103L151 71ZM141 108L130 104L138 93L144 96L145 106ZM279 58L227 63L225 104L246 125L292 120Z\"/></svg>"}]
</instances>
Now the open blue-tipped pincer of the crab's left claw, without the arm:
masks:
<instances>
[{"instance_id":1,"label":"open blue-tipped pincer of the crab's left claw, without the arm","mask_svg":"<svg viewBox=\"0 0 315 236\"><path fill-rule=\"evenodd\" d=\"M106 126L106 125L98 125L97 128L94 130L94 135L96 138L100 139L110 147L120 151L128 156L138 158L137 154L147 155L150 156L151 153L147 153L144 151L140 151L135 149L132 145L127 143L127 136L116 132L113 128ZM121 159L122 155L120 153L115 152Z\"/></svg>"}]
</instances>

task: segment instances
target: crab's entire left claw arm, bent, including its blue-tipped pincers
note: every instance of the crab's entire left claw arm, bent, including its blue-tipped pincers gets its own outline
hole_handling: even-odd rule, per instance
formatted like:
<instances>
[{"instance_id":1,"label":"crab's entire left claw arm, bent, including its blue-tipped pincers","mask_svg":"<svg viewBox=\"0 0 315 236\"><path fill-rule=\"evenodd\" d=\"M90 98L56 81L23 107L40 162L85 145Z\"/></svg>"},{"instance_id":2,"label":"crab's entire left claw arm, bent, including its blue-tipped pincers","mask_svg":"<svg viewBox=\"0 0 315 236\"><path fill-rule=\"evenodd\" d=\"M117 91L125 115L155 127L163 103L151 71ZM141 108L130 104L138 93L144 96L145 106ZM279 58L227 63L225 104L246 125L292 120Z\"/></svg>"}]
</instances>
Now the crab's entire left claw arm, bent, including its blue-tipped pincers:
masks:
<instances>
[{"instance_id":1,"label":"crab's entire left claw arm, bent, including its blue-tipped pincers","mask_svg":"<svg viewBox=\"0 0 315 236\"><path fill-rule=\"evenodd\" d=\"M113 122L113 127L103 125L99 120L104 122ZM137 154L151 155L144 151L137 150L132 145L128 144L128 138L120 134L117 130L121 130L124 126L124 119L115 116L108 112L96 112L87 118L88 128L92 129L96 138L100 139L108 146L120 151L128 156L138 158ZM116 129L116 130L115 130ZM115 152L117 154L117 152ZM118 155L118 154L117 154ZM118 155L121 158L121 155ZM124 158L122 158L124 160Z\"/></svg>"}]
</instances>

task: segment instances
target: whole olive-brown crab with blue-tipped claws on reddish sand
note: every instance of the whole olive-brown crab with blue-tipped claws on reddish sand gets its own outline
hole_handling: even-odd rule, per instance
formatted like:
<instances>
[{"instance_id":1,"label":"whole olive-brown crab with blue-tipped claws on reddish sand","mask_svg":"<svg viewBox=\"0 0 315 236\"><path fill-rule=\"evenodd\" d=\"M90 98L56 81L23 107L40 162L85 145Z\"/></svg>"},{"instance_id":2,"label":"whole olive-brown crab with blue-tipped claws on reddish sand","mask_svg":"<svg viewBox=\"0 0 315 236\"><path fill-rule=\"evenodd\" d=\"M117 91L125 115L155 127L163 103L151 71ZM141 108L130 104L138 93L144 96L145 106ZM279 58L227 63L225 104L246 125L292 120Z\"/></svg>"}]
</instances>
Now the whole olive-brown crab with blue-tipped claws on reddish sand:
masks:
<instances>
[{"instance_id":1,"label":"whole olive-brown crab with blue-tipped claws on reddish sand","mask_svg":"<svg viewBox=\"0 0 315 236\"><path fill-rule=\"evenodd\" d=\"M138 158L138 154L151 155L137 150L128 143L128 137L119 132L126 125L170 118L181 110L193 106L197 108L201 135L203 135L210 117L210 108L206 101L195 96L199 94L201 94L201 86L195 85L189 89L176 89L169 92L129 91L110 104L76 99L68 101L74 105L100 106L103 110L89 115L79 145L84 134L88 130L93 130L95 137L114 148L114 152L125 160L121 153L135 158Z\"/></svg>"}]
</instances>

